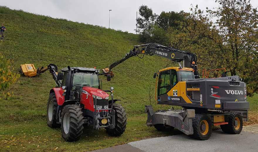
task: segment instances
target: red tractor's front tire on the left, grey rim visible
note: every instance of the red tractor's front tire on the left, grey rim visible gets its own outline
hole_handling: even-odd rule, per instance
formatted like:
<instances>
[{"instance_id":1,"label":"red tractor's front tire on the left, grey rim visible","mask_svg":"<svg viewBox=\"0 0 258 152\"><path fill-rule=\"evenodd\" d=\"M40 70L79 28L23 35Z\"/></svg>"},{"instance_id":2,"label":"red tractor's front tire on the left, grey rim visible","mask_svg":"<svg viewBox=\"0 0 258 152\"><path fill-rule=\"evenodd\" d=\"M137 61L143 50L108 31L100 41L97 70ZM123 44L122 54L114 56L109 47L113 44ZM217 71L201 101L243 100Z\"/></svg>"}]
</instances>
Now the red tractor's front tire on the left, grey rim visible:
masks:
<instances>
[{"instance_id":1,"label":"red tractor's front tire on the left, grey rim visible","mask_svg":"<svg viewBox=\"0 0 258 152\"><path fill-rule=\"evenodd\" d=\"M66 105L61 114L61 131L65 141L77 141L83 131L82 109L77 104Z\"/></svg>"}]
</instances>

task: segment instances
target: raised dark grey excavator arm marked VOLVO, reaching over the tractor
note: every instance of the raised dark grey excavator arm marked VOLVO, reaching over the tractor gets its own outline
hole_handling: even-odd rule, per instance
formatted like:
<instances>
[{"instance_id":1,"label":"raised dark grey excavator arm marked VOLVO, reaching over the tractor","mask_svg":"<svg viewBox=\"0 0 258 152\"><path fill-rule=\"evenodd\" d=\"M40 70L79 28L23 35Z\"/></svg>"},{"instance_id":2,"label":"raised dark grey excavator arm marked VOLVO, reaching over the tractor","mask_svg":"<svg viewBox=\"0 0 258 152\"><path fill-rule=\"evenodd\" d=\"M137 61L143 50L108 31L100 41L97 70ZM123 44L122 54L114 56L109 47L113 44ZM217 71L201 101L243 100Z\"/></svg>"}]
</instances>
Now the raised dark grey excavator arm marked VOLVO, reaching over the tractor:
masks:
<instances>
[{"instance_id":1,"label":"raised dark grey excavator arm marked VOLVO, reaching over the tractor","mask_svg":"<svg viewBox=\"0 0 258 152\"><path fill-rule=\"evenodd\" d=\"M141 55L141 56L140 56ZM167 58L174 62L178 62L179 66L182 68L180 62L183 61L183 67L193 68L195 78L199 78L197 70L197 57L193 53L185 52L171 47L166 47L157 43L148 43L143 45L135 45L133 50L130 50L129 53L125 54L125 57L121 60L112 63L109 67L103 69L107 76L113 77L113 72L111 69L124 62L128 58L133 56L138 56L143 58L144 55L158 55L163 58Z\"/></svg>"}]
</instances>

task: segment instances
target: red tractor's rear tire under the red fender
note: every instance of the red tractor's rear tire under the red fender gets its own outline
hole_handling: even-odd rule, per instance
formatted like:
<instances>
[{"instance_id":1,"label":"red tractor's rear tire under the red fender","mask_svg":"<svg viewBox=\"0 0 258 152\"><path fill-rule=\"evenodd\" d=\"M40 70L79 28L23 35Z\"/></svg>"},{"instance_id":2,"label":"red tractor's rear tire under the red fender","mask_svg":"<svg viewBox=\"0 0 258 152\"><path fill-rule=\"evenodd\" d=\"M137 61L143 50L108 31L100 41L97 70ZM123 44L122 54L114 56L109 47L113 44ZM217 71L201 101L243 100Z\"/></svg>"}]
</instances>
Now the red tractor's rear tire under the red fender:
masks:
<instances>
[{"instance_id":1,"label":"red tractor's rear tire under the red fender","mask_svg":"<svg viewBox=\"0 0 258 152\"><path fill-rule=\"evenodd\" d=\"M47 126L50 128L60 127L60 124L57 123L57 100L55 97L55 92L49 94L47 102Z\"/></svg>"}]
</instances>

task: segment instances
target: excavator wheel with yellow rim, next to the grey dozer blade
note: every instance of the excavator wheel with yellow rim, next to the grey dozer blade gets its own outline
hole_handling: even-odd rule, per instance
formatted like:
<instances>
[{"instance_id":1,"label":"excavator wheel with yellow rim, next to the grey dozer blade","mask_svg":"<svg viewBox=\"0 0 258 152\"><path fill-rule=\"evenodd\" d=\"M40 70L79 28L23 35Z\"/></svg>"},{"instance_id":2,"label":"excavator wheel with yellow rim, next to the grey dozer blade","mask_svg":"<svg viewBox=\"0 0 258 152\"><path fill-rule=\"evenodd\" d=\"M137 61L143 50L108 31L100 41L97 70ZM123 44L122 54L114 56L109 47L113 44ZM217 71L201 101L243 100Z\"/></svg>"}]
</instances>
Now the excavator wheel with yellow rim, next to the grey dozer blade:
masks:
<instances>
[{"instance_id":1,"label":"excavator wheel with yellow rim, next to the grey dozer blade","mask_svg":"<svg viewBox=\"0 0 258 152\"><path fill-rule=\"evenodd\" d=\"M192 119L192 124L192 138L199 140L207 140L210 138L212 132L212 124L211 119L207 115L195 114L195 117Z\"/></svg>"}]
</instances>

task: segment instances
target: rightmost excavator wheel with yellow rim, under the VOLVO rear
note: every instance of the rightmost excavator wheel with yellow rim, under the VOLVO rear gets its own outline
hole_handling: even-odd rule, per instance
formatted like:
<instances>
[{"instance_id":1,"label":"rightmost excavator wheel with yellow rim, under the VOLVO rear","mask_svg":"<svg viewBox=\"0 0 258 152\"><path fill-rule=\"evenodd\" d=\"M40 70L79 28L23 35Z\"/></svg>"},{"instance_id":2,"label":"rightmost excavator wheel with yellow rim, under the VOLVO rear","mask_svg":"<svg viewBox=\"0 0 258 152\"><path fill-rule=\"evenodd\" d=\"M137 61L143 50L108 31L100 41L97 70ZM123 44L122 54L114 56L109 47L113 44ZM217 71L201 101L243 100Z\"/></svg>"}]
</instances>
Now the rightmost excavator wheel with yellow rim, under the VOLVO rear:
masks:
<instances>
[{"instance_id":1,"label":"rightmost excavator wheel with yellow rim, under the VOLVO rear","mask_svg":"<svg viewBox=\"0 0 258 152\"><path fill-rule=\"evenodd\" d=\"M237 113L228 115L228 124L220 125L223 132L229 134L240 134L243 129L242 116Z\"/></svg>"}]
</instances>

